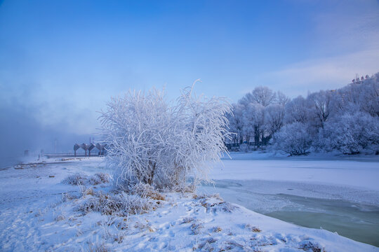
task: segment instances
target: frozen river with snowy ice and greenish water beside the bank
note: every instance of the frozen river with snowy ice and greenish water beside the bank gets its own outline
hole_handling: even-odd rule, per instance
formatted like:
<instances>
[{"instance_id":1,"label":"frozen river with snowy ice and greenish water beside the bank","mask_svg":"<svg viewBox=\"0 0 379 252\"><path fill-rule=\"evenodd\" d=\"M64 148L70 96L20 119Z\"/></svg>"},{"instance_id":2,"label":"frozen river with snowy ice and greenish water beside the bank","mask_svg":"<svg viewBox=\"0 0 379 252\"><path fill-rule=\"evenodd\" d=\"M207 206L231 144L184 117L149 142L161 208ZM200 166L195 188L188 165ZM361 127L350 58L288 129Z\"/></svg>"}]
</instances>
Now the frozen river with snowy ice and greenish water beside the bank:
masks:
<instances>
[{"instance_id":1,"label":"frozen river with snowy ice and greenish water beside the bank","mask_svg":"<svg viewBox=\"0 0 379 252\"><path fill-rule=\"evenodd\" d=\"M232 154L211 172L227 201L308 228L379 246L379 160Z\"/></svg>"}]
</instances>

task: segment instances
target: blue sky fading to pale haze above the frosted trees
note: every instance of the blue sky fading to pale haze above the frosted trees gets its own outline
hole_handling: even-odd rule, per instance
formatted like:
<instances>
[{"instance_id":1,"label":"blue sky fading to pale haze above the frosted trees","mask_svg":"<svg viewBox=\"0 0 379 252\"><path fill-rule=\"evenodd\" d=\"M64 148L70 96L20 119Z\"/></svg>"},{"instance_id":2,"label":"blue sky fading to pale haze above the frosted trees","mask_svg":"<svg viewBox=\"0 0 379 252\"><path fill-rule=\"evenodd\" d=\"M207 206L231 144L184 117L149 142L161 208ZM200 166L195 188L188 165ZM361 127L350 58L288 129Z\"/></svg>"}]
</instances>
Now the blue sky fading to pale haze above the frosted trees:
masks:
<instances>
[{"instance_id":1,"label":"blue sky fading to pale haze above the frosted trees","mask_svg":"<svg viewBox=\"0 0 379 252\"><path fill-rule=\"evenodd\" d=\"M87 139L131 88L174 99L201 78L198 93L237 102L259 85L295 97L377 71L375 0L4 0L0 151Z\"/></svg>"}]
</instances>

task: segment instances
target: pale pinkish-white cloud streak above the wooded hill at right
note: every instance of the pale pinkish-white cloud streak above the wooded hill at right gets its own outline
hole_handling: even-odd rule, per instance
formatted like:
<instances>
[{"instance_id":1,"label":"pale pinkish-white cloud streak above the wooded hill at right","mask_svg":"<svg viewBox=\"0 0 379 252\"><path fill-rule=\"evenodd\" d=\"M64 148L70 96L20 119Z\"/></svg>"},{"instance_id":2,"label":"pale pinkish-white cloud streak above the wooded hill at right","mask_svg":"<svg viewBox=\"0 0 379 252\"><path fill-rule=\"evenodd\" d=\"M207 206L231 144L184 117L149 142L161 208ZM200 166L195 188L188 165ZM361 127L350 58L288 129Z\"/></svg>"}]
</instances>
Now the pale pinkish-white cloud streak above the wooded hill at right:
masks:
<instances>
[{"instance_id":1,"label":"pale pinkish-white cloud streak above the wooded hill at right","mask_svg":"<svg viewBox=\"0 0 379 252\"><path fill-rule=\"evenodd\" d=\"M307 91L343 87L356 73L365 76L378 71L379 49L375 49L300 62L280 71L265 73L260 78L265 85L294 97L306 95Z\"/></svg>"}]
</instances>

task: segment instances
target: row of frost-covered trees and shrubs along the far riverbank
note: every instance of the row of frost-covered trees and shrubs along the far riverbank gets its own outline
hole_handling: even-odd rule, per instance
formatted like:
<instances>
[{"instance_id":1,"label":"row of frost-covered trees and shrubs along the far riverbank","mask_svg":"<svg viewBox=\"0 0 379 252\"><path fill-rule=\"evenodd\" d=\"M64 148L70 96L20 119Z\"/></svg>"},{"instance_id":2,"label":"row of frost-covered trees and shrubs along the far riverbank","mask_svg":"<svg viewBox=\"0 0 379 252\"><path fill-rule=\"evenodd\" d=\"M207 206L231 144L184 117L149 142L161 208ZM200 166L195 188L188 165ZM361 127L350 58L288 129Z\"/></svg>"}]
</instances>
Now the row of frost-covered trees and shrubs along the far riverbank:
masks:
<instances>
[{"instance_id":1,"label":"row of frost-covered trees and shrubs along the far riverbank","mask_svg":"<svg viewBox=\"0 0 379 252\"><path fill-rule=\"evenodd\" d=\"M232 111L227 117L234 144L272 144L290 155L379 153L379 73L294 99L255 87Z\"/></svg>"}]
</instances>

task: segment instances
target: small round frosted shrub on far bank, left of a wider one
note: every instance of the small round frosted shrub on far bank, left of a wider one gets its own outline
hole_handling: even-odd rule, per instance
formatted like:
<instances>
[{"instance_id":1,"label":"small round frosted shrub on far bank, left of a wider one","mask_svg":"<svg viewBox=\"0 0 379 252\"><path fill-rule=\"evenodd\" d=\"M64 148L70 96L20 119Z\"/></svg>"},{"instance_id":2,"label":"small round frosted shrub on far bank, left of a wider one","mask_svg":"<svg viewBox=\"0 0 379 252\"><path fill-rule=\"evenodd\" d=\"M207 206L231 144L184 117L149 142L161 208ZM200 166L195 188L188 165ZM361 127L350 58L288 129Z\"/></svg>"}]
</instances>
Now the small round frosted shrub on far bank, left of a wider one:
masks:
<instances>
[{"instance_id":1,"label":"small round frosted shrub on far bank, left of a wider one","mask_svg":"<svg viewBox=\"0 0 379 252\"><path fill-rule=\"evenodd\" d=\"M274 134L274 145L277 149L290 155L305 155L309 152L312 137L303 123L285 125Z\"/></svg>"}]
</instances>

